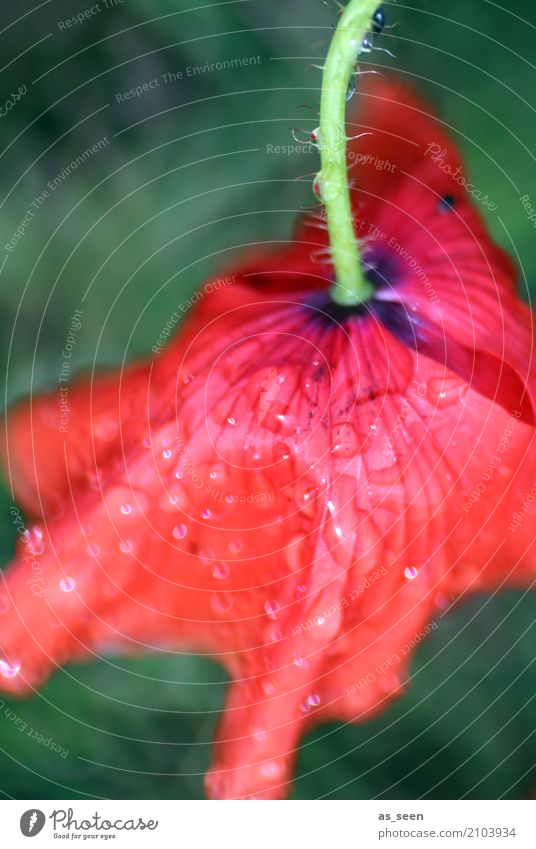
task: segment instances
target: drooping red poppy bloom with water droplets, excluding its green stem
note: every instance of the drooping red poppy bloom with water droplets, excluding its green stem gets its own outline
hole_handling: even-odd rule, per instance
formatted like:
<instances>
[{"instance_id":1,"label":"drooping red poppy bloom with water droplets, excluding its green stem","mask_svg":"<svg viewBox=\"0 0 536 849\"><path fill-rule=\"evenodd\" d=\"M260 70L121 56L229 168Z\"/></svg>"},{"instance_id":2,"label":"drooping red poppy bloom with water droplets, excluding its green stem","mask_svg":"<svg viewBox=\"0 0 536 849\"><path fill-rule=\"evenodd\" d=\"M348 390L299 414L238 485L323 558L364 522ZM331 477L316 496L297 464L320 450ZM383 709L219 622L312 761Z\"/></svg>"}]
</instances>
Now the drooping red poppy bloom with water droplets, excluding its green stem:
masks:
<instances>
[{"instance_id":1,"label":"drooping red poppy bloom with water droplets, excluding its green stem","mask_svg":"<svg viewBox=\"0 0 536 849\"><path fill-rule=\"evenodd\" d=\"M531 313L441 125L395 83L363 100L367 304L330 300L308 216L151 362L70 388L62 430L57 394L8 416L35 523L5 575L2 688L210 653L233 679L215 798L287 793L304 732L385 707L438 610L536 577Z\"/></svg>"}]
</instances>

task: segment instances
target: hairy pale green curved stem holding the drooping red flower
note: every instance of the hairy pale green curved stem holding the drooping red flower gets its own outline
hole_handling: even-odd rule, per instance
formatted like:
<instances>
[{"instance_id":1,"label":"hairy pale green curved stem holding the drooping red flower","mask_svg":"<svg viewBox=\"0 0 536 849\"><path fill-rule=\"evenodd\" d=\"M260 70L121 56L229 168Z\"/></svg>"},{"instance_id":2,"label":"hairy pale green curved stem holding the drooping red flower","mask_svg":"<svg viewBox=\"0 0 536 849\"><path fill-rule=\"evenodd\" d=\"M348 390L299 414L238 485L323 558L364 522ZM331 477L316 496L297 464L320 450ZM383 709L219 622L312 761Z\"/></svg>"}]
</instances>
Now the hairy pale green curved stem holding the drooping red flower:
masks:
<instances>
[{"instance_id":1,"label":"hairy pale green curved stem holding the drooping red flower","mask_svg":"<svg viewBox=\"0 0 536 849\"><path fill-rule=\"evenodd\" d=\"M354 232L346 172L346 97L363 38L371 28L378 0L350 0L342 13L330 44L322 76L320 99L321 171L317 191L326 207L326 220L335 283L334 301L346 306L360 304L373 293L363 274Z\"/></svg>"}]
</instances>

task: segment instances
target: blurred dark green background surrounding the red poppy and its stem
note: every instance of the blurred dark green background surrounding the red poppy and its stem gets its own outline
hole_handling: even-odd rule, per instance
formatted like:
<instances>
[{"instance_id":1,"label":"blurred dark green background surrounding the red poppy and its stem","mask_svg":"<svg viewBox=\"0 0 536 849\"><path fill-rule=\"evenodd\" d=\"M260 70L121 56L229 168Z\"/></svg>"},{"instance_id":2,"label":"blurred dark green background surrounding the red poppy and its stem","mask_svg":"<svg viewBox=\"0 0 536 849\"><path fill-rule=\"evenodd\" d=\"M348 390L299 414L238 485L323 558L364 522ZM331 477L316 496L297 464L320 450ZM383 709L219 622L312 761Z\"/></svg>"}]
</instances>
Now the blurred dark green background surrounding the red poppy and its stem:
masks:
<instances>
[{"instance_id":1,"label":"blurred dark green background surrounding the red poppy and its stem","mask_svg":"<svg viewBox=\"0 0 536 849\"><path fill-rule=\"evenodd\" d=\"M91 13L91 9L97 9ZM385 4L396 23L368 65L412 81L497 204L489 225L528 297L536 206L534 0ZM62 26L90 10L82 23ZM5 401L54 386L74 309L77 367L148 351L169 315L241 246L288 238L311 203L312 154L269 153L312 129L336 17L321 0L87 0L0 8L0 354ZM235 62L222 70L207 64ZM200 69L188 75L188 68ZM182 73L165 84L164 74ZM160 79L140 97L127 90ZM10 111L11 94L22 91ZM49 181L68 174L12 252ZM2 263L4 263L2 265ZM1 490L2 562L14 529ZM294 798L519 798L536 784L530 594L480 598L440 621L407 694L361 726L323 726L301 749ZM200 798L225 676L206 659L105 658L0 708L0 790L15 798ZM61 756L21 733L6 716ZM19 725L20 727L20 725Z\"/></svg>"}]
</instances>

